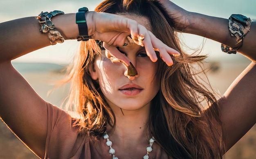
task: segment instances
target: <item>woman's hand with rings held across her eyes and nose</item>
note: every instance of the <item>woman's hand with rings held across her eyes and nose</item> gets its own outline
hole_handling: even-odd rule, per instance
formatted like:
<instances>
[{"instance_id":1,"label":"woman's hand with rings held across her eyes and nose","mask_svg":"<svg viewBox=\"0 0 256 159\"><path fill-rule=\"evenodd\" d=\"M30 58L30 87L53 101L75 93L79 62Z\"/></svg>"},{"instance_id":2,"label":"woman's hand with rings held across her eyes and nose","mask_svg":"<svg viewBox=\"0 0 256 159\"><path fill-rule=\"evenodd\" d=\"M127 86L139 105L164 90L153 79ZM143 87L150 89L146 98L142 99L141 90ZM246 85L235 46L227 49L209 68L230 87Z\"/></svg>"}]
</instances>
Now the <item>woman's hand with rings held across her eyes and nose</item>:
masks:
<instances>
[{"instance_id":1,"label":"woman's hand with rings held across her eyes and nose","mask_svg":"<svg viewBox=\"0 0 256 159\"><path fill-rule=\"evenodd\" d=\"M128 19L121 15L97 12L89 12L89 15L86 16L86 20L88 21L88 33L92 39L104 41L103 47L109 50L113 57L122 59L127 64L129 60L121 56L121 52L119 52L116 47L124 46L128 36L131 36L136 44L145 47L148 57L150 57L153 62L157 61L154 48L159 50L160 57L162 57L167 65L173 64L170 55L180 55L179 52L168 47L135 20ZM141 36L144 37L142 43L138 41Z\"/></svg>"}]
</instances>

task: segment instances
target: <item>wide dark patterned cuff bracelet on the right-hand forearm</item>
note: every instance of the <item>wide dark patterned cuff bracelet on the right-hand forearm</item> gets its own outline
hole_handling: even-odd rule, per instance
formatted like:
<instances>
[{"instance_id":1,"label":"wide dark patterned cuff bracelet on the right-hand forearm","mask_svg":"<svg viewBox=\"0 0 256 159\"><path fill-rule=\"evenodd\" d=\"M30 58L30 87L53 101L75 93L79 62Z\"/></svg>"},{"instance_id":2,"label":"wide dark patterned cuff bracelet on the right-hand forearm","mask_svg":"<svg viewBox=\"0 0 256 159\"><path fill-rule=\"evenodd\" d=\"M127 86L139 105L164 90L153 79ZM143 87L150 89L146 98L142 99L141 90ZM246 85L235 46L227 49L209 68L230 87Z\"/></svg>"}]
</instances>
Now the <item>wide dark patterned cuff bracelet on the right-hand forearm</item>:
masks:
<instances>
[{"instance_id":1,"label":"wide dark patterned cuff bracelet on the right-hand forearm","mask_svg":"<svg viewBox=\"0 0 256 159\"><path fill-rule=\"evenodd\" d=\"M231 48L225 44L221 44L221 50L228 54L236 54L236 50L242 47L243 39L250 30L252 20L240 14L232 14L229 17L229 33L232 37L236 37L236 46Z\"/></svg>"}]
</instances>

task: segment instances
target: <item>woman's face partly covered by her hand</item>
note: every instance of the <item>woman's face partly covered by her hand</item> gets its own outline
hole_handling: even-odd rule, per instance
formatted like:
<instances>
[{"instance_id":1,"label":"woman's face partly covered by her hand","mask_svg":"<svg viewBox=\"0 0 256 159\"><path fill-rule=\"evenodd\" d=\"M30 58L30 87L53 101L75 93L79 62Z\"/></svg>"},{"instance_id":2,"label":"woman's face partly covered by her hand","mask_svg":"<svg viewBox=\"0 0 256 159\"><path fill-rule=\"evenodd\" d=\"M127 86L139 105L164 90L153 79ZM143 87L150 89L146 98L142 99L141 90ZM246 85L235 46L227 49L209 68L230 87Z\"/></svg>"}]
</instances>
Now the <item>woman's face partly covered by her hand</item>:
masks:
<instances>
[{"instance_id":1,"label":"woman's face partly covered by her hand","mask_svg":"<svg viewBox=\"0 0 256 159\"><path fill-rule=\"evenodd\" d=\"M144 26L149 26L144 17L130 17ZM148 30L150 28L147 28ZM119 48L135 66L139 76L130 80L124 75L126 67L121 62L112 63L101 52L101 56L94 61L94 71L91 72L94 80L99 80L99 85L110 107L119 107L124 110L137 110L149 106L150 101L159 90L157 83L157 62L152 62L146 55L144 47L129 43Z\"/></svg>"}]
</instances>

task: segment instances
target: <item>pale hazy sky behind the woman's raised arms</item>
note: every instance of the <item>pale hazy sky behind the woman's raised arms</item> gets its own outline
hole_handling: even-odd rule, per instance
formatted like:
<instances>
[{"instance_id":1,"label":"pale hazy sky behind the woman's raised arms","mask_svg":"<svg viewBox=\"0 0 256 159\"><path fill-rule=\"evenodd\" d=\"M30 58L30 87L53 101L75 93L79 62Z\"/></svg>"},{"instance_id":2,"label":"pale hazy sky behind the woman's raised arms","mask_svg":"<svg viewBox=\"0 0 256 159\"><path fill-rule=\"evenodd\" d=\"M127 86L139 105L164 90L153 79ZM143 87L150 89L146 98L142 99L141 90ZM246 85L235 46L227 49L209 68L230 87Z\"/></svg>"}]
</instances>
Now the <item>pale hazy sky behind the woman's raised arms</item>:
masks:
<instances>
[{"instance_id":1,"label":"pale hazy sky behind the woman's raised arms","mask_svg":"<svg viewBox=\"0 0 256 159\"><path fill-rule=\"evenodd\" d=\"M0 0L0 22L37 16L41 11L61 10L65 13L76 13L81 7L88 7L89 11L93 11L100 2L102 0ZM172 2L187 11L210 16L228 18L231 14L243 14L256 19L256 0L172 0ZM182 34L180 38L192 48L204 45L202 51L209 54L211 60L239 61L244 59L238 54L229 55L221 52L220 43L210 39L189 34ZM78 46L79 42L76 40L66 40L63 44L36 50L13 61L66 64L71 61Z\"/></svg>"}]
</instances>

